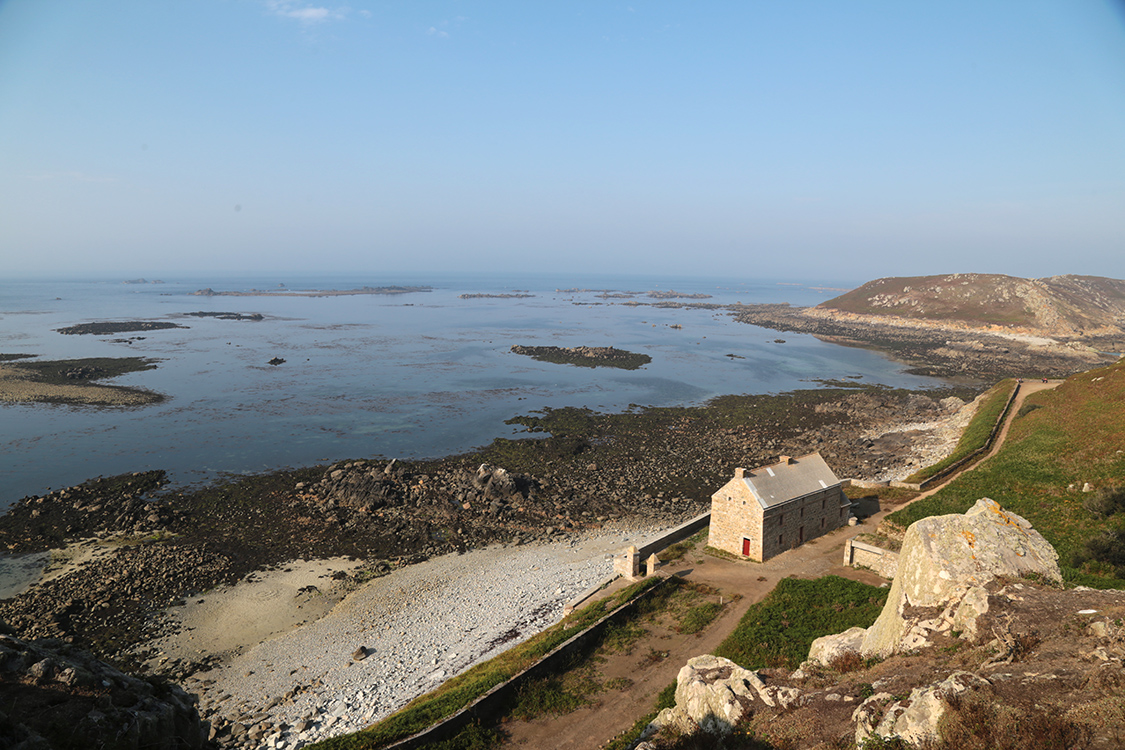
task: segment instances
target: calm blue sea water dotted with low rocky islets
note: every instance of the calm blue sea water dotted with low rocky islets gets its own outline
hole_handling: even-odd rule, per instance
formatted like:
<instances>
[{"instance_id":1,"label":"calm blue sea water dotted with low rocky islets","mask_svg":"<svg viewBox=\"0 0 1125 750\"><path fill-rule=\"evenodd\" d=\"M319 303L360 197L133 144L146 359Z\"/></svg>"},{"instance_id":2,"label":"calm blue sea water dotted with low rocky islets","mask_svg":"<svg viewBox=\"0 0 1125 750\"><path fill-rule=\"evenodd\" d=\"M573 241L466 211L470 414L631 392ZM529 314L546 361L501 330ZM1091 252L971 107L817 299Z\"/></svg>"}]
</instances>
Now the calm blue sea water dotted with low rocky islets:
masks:
<instances>
[{"instance_id":1,"label":"calm blue sea water dotted with low rocky islets","mask_svg":"<svg viewBox=\"0 0 1125 750\"><path fill-rule=\"evenodd\" d=\"M939 383L904 374L901 365L875 353L739 324L721 310L632 307L594 292L557 291L675 289L712 295L703 300L710 302L795 305L838 293L812 284L439 275L165 281L0 283L0 352L154 358L158 369L112 382L168 396L140 408L0 405L0 507L48 488L144 469L168 469L174 481L192 484L342 458L446 455L512 435L515 430L505 419L542 407L698 404L723 394L817 387L812 379L846 376L907 388ZM325 298L190 295L206 287L235 291L279 283L292 290L434 289ZM459 298L513 290L534 297ZM266 317L183 317L197 310ZM130 319L170 319L188 327L112 336L54 331ZM144 340L111 341L133 336ZM612 345L649 354L652 362L636 371L558 365L512 354L512 344ZM271 367L274 356L286 362Z\"/></svg>"}]
</instances>

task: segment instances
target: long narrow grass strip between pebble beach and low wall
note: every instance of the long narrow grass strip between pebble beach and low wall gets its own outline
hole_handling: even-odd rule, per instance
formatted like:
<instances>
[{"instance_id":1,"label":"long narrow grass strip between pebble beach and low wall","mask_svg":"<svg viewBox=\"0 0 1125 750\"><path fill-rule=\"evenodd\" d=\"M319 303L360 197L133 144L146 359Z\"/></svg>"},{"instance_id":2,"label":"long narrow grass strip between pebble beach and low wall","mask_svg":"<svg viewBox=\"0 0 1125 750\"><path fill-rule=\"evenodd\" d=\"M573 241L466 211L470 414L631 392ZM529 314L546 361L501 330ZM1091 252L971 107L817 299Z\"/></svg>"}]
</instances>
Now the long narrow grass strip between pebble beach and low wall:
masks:
<instances>
[{"instance_id":1,"label":"long narrow grass strip between pebble beach and low wall","mask_svg":"<svg viewBox=\"0 0 1125 750\"><path fill-rule=\"evenodd\" d=\"M646 579L622 589L613 597L583 607L542 633L447 680L438 689L414 699L374 726L353 734L332 738L312 747L320 750L374 750L415 734L447 716L451 716L493 687L511 679L512 676L526 669L573 635L590 627L618 606L656 586L662 580L666 579ZM540 687L554 689L562 686L541 685ZM542 696L528 697L529 706L537 701L550 706L559 706L560 702L567 699L557 695L546 695L548 693L546 689L543 693Z\"/></svg>"}]
</instances>

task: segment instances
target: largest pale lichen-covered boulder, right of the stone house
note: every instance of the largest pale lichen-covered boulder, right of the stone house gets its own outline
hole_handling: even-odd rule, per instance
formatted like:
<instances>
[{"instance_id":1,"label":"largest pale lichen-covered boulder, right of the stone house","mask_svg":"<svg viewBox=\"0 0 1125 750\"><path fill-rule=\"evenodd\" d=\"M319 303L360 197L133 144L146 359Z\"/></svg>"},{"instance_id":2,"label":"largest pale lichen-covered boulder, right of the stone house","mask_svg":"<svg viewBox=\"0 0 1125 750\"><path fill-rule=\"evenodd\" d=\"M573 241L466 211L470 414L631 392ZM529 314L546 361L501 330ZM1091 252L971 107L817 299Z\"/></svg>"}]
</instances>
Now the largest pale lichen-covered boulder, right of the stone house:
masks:
<instances>
[{"instance_id":1,"label":"largest pale lichen-covered boulder, right of the stone house","mask_svg":"<svg viewBox=\"0 0 1125 750\"><path fill-rule=\"evenodd\" d=\"M1032 525L981 498L964 515L924 518L907 530L886 605L861 651L886 656L921 648L928 633L970 635L988 611L983 586L997 577L1062 582L1059 555Z\"/></svg>"}]
</instances>

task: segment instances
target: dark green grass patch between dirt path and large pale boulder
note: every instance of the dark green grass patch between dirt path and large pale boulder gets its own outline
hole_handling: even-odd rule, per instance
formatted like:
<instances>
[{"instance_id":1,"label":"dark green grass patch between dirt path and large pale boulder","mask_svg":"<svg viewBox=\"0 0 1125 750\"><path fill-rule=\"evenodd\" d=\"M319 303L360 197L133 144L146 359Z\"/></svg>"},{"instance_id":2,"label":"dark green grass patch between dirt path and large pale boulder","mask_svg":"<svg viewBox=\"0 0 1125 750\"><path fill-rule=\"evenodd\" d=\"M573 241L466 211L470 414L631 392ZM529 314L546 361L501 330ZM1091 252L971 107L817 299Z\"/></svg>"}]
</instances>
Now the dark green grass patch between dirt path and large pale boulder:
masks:
<instances>
[{"instance_id":1,"label":"dark green grass patch between dirt path and large pale boulder","mask_svg":"<svg viewBox=\"0 0 1125 750\"><path fill-rule=\"evenodd\" d=\"M821 635L875 622L888 591L838 576L783 578L750 606L714 653L746 669L795 669Z\"/></svg>"}]
</instances>

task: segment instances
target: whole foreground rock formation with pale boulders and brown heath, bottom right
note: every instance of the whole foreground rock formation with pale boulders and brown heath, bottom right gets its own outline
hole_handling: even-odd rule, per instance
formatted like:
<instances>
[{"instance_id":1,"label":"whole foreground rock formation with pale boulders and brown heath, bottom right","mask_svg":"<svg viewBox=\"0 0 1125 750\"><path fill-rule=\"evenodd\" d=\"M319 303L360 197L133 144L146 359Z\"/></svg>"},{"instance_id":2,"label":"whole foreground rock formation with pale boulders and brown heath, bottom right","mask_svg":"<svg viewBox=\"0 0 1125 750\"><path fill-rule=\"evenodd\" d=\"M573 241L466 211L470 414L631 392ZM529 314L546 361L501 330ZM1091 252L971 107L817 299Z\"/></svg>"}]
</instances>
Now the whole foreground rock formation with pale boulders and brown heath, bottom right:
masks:
<instances>
[{"instance_id":1,"label":"whole foreground rock formation with pale boulders and brown heath, bottom right","mask_svg":"<svg viewBox=\"0 0 1125 750\"><path fill-rule=\"evenodd\" d=\"M637 750L736 728L755 739L730 747L1119 747L1125 591L1061 584L1051 545L988 498L919 521L874 625L818 639L793 672L690 660Z\"/></svg>"}]
</instances>

